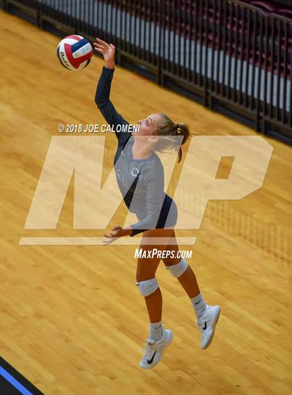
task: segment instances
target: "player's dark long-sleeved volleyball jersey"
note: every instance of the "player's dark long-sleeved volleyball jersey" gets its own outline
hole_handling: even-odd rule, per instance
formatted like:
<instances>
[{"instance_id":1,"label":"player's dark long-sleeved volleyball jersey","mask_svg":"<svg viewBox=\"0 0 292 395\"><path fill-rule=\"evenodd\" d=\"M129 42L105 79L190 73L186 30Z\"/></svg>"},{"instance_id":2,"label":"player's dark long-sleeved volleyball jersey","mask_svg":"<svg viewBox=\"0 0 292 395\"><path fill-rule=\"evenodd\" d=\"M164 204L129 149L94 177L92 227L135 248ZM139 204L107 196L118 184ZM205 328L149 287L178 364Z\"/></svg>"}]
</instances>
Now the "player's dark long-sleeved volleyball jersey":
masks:
<instances>
[{"instance_id":1,"label":"player's dark long-sleeved volleyball jersey","mask_svg":"<svg viewBox=\"0 0 292 395\"><path fill-rule=\"evenodd\" d=\"M129 123L115 110L109 99L114 69L103 67L99 78L95 103L111 125ZM131 133L115 133L118 144L115 153L115 174L117 185L127 208L134 212L139 221L131 225L132 236L153 228L173 226L177 221L177 207L170 196L164 192L164 171L161 160L156 155L147 159L133 159Z\"/></svg>"}]
</instances>

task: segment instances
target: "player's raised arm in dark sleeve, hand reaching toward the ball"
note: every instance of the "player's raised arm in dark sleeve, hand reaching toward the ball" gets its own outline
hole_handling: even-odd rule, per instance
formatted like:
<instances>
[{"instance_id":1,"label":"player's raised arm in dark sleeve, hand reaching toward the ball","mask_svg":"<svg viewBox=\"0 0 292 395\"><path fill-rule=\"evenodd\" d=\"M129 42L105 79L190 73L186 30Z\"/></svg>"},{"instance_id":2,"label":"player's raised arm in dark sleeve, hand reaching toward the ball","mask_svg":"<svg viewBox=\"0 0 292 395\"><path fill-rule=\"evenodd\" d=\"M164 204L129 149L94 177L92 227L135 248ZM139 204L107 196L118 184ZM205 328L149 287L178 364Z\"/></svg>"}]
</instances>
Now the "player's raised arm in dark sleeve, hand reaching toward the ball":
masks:
<instances>
[{"instance_id":1,"label":"player's raised arm in dark sleeve, hand reaching toward the ball","mask_svg":"<svg viewBox=\"0 0 292 395\"><path fill-rule=\"evenodd\" d=\"M129 124L122 115L117 113L113 103L109 99L111 92L111 81L115 70L115 46L107 42L96 39L94 42L95 50L104 56L105 65L102 69L102 75L99 77L97 91L95 93L95 103L102 112L104 119L116 131L117 125ZM121 133L115 133L117 139L120 140Z\"/></svg>"}]
</instances>

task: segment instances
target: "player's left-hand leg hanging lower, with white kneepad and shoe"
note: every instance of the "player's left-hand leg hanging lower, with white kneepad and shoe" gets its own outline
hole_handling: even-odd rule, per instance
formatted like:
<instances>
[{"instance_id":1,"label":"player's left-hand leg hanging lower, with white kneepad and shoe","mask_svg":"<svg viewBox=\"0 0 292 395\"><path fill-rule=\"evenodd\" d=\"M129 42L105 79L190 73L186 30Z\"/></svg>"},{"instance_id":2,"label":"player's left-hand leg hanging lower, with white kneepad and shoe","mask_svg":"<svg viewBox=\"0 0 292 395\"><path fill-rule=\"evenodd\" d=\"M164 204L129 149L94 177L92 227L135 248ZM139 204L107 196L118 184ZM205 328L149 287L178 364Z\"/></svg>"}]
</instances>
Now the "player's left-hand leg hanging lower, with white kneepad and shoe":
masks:
<instances>
[{"instance_id":1,"label":"player's left-hand leg hanging lower, with white kneepad and shoe","mask_svg":"<svg viewBox=\"0 0 292 395\"><path fill-rule=\"evenodd\" d=\"M152 254L153 249L163 251L166 245L149 245L145 240L149 237L170 237L170 230L154 229L143 233L140 248ZM150 369L159 363L165 348L172 342L172 332L163 328L161 321L162 296L155 273L161 258L138 258L136 281L140 294L145 297L149 314L149 337L146 340L145 355L140 361L140 367Z\"/></svg>"}]
</instances>

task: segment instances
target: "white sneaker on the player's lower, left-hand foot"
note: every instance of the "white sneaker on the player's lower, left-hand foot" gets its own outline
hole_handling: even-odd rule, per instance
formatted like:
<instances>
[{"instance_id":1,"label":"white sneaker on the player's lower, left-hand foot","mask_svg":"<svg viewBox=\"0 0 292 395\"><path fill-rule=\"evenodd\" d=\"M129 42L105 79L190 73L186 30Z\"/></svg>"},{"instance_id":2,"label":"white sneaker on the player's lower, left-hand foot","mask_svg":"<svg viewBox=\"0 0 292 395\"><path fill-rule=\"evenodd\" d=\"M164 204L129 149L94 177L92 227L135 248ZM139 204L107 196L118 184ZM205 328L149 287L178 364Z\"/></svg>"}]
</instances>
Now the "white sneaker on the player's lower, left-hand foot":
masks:
<instances>
[{"instance_id":1,"label":"white sneaker on the player's lower, left-hand foot","mask_svg":"<svg viewBox=\"0 0 292 395\"><path fill-rule=\"evenodd\" d=\"M163 329L162 337L158 342L146 339L145 355L140 360L140 367L142 369L151 369L156 366L162 358L163 351L172 342L172 337L170 329Z\"/></svg>"}]
</instances>

